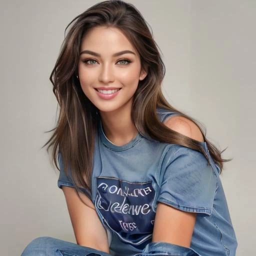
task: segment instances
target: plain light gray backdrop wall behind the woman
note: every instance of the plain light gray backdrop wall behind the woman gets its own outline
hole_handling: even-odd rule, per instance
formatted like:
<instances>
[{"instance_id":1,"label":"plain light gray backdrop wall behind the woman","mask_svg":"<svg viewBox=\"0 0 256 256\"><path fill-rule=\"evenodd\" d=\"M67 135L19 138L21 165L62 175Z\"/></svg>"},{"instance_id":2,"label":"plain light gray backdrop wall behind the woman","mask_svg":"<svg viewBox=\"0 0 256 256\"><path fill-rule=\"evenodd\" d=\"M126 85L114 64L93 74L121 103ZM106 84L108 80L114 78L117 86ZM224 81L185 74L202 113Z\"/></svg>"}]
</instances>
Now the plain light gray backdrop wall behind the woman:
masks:
<instances>
[{"instance_id":1,"label":"plain light gray backdrop wall behind the woman","mask_svg":"<svg viewBox=\"0 0 256 256\"><path fill-rule=\"evenodd\" d=\"M96 0L0 2L0 243L20 255L38 236L75 242L64 195L40 147L57 101L49 75L67 23ZM238 240L255 252L254 0L129 0L151 25L169 102L201 121L224 149L221 180ZM254 72L253 72L254 71Z\"/></svg>"}]
</instances>

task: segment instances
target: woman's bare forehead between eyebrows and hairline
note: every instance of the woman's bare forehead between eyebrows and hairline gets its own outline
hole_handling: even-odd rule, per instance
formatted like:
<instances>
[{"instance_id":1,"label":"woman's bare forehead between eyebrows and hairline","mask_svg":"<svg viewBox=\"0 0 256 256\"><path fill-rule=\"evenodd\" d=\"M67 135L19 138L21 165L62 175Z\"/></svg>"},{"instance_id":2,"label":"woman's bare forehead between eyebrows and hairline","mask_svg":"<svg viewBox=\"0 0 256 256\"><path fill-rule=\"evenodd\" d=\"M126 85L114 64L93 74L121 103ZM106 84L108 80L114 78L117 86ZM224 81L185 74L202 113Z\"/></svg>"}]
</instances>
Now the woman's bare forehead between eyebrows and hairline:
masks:
<instances>
[{"instance_id":1,"label":"woman's bare forehead between eyebrows and hairline","mask_svg":"<svg viewBox=\"0 0 256 256\"><path fill-rule=\"evenodd\" d=\"M96 26L91 28L81 41L81 50L89 49L96 52L111 52L136 49L123 32L116 27Z\"/></svg>"}]
</instances>

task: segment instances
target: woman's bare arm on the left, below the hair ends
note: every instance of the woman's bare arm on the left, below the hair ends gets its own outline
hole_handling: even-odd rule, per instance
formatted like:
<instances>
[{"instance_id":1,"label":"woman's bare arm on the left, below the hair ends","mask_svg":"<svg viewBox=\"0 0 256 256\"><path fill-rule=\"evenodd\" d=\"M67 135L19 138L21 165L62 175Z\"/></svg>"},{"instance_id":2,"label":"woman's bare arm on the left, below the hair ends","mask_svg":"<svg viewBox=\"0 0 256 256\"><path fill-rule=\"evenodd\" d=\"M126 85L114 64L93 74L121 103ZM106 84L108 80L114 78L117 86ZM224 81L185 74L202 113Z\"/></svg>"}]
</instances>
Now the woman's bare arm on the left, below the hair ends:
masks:
<instances>
[{"instance_id":1,"label":"woman's bare arm on the left, below the hair ends","mask_svg":"<svg viewBox=\"0 0 256 256\"><path fill-rule=\"evenodd\" d=\"M100 222L92 201L80 193L83 204L75 189L62 186L77 244L109 253L106 231Z\"/></svg>"}]
</instances>

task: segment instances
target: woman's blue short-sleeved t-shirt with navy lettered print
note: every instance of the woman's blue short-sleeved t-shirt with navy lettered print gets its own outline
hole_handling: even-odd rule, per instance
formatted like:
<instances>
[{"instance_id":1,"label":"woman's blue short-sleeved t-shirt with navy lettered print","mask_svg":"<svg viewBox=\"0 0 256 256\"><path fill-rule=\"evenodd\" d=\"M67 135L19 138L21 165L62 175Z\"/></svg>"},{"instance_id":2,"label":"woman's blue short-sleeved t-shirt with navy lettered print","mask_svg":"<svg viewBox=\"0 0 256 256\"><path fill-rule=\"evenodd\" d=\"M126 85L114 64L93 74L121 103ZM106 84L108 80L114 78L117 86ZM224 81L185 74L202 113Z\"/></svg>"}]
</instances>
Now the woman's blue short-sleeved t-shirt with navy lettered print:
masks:
<instances>
[{"instance_id":1,"label":"woman's blue short-sleeved t-shirt with navy lettered print","mask_svg":"<svg viewBox=\"0 0 256 256\"><path fill-rule=\"evenodd\" d=\"M161 122L175 115L157 107ZM210 160L191 148L163 143L137 133L118 146L105 136L101 122L95 136L91 191L92 200L107 231L110 254L139 253L151 242L158 202L183 211L197 212L190 248L201 256L235 255L237 246L219 167L205 142ZM73 187L71 170L60 173L57 185Z\"/></svg>"}]
</instances>

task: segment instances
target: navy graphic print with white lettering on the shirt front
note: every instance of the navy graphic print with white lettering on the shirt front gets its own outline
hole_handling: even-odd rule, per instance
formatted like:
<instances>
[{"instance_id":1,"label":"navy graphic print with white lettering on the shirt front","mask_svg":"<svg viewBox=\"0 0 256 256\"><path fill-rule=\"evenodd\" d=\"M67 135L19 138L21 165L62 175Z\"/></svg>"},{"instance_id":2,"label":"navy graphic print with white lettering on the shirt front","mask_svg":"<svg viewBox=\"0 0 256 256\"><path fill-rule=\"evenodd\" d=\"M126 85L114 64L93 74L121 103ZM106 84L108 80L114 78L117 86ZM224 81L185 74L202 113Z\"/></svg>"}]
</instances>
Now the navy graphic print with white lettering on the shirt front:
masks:
<instances>
[{"instance_id":1,"label":"navy graphic print with white lettering on the shirt front","mask_svg":"<svg viewBox=\"0 0 256 256\"><path fill-rule=\"evenodd\" d=\"M122 241L138 245L152 236L154 194L152 181L128 182L99 176L95 207Z\"/></svg>"}]
</instances>

